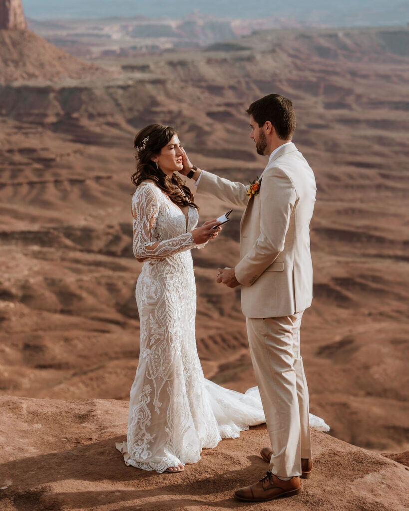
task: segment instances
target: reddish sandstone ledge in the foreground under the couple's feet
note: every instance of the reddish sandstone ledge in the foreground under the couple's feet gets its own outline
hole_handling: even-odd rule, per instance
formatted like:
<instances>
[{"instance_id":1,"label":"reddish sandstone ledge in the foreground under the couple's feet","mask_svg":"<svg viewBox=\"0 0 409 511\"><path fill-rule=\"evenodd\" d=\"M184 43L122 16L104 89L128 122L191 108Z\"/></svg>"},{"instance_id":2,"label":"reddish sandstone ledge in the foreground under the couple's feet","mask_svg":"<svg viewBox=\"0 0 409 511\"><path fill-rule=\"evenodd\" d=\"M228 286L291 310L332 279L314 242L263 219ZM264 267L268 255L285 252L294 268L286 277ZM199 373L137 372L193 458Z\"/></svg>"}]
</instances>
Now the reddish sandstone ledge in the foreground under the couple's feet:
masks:
<instances>
[{"instance_id":1,"label":"reddish sandstone ledge in the foreground under the couple's feet","mask_svg":"<svg viewBox=\"0 0 409 511\"><path fill-rule=\"evenodd\" d=\"M2 511L225 511L232 493L267 470L265 425L202 451L181 474L126 467L127 403L116 400L0 398ZM296 497L252 504L255 511L404 511L409 469L312 431L313 475Z\"/></svg>"}]
</instances>

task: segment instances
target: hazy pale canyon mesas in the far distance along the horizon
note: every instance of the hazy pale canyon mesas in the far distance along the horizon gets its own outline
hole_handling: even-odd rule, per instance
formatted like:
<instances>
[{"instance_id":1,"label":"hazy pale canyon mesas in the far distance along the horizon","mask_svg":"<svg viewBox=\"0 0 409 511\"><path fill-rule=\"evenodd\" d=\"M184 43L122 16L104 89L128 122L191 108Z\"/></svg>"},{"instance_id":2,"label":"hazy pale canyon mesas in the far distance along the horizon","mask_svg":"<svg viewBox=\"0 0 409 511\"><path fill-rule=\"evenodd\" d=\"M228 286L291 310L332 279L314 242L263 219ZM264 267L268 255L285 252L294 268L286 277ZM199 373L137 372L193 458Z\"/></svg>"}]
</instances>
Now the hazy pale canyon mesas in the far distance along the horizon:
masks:
<instances>
[{"instance_id":1,"label":"hazy pale canyon mesas in the far distance along the horizon","mask_svg":"<svg viewBox=\"0 0 409 511\"><path fill-rule=\"evenodd\" d=\"M176 13L176 11L175 11ZM293 19L215 19L199 12L175 19L136 16L36 21L29 28L76 57L134 57L178 48L198 48L255 30L299 27Z\"/></svg>"}]
</instances>

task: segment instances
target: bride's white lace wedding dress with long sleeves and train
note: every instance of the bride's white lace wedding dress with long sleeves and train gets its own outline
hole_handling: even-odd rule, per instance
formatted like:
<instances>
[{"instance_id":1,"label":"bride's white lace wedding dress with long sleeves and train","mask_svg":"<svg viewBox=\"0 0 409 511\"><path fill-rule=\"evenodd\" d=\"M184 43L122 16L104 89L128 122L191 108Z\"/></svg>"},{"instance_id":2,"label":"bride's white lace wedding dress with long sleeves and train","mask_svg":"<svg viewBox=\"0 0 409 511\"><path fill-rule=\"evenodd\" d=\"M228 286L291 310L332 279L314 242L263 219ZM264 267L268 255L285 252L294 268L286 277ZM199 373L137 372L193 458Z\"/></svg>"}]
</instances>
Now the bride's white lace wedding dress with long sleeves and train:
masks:
<instances>
[{"instance_id":1,"label":"bride's white lace wedding dress with long sleeves and train","mask_svg":"<svg viewBox=\"0 0 409 511\"><path fill-rule=\"evenodd\" d=\"M132 198L133 253L145 258L136 299L140 358L130 391L127 465L163 472L195 463L202 449L265 422L257 387L245 394L206 380L195 339L196 285L190 250L197 210L188 217L153 182ZM328 426L310 415L312 427Z\"/></svg>"}]
</instances>

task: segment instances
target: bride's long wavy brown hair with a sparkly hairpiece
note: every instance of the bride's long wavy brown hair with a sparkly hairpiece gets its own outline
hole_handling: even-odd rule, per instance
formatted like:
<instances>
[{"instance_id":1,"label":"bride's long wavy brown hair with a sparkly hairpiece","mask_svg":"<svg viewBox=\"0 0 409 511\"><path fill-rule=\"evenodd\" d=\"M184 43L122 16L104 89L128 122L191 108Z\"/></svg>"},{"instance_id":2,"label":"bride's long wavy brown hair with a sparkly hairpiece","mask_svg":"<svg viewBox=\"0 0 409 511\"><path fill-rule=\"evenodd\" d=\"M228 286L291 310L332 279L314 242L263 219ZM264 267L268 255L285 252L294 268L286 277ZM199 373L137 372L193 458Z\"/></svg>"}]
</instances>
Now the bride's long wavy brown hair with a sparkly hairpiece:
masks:
<instances>
[{"instance_id":1,"label":"bride's long wavy brown hair with a sparkly hairpiece","mask_svg":"<svg viewBox=\"0 0 409 511\"><path fill-rule=\"evenodd\" d=\"M137 133L133 147L137 151L135 158L138 163L137 170L132 174L132 182L138 187L142 181L150 179L178 206L189 204L198 210L199 207L194 203L194 196L185 181L175 172L167 176L161 168L156 168L156 164L151 160L151 157L160 154L162 148L177 134L175 128L162 124L149 124Z\"/></svg>"}]
</instances>

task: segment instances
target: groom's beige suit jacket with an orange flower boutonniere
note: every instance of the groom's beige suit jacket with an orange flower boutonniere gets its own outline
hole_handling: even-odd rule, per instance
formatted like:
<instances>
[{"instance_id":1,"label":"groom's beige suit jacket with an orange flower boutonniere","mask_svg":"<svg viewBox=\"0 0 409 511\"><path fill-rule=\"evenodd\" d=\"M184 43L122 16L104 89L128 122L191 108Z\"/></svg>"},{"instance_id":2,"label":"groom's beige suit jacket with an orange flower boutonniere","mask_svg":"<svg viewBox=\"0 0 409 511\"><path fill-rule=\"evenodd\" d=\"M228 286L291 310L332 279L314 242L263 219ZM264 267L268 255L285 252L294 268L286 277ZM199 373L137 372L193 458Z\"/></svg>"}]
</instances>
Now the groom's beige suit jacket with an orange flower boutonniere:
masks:
<instances>
[{"instance_id":1,"label":"groom's beige suit jacket with an orange flower boutonniere","mask_svg":"<svg viewBox=\"0 0 409 511\"><path fill-rule=\"evenodd\" d=\"M288 316L309 307L309 223L316 186L312 169L296 146L282 147L269 161L257 195L249 198L248 186L206 171L197 190L245 207L240 222L240 262L235 267L242 285L244 316Z\"/></svg>"}]
</instances>

